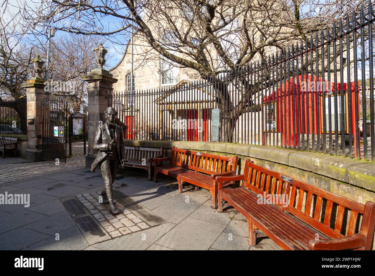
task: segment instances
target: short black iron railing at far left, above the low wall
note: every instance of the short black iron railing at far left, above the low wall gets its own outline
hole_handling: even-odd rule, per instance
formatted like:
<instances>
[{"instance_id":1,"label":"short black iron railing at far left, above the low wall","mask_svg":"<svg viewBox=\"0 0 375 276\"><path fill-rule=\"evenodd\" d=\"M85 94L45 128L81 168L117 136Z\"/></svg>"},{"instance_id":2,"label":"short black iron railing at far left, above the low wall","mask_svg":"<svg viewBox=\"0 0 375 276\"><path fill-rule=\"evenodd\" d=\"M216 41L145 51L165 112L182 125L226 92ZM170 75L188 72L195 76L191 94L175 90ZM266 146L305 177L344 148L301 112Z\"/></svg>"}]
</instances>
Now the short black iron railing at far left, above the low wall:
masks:
<instances>
[{"instance_id":1,"label":"short black iron railing at far left, above the low wall","mask_svg":"<svg viewBox=\"0 0 375 276\"><path fill-rule=\"evenodd\" d=\"M1 134L27 134L26 98L0 99Z\"/></svg>"}]
</instances>

